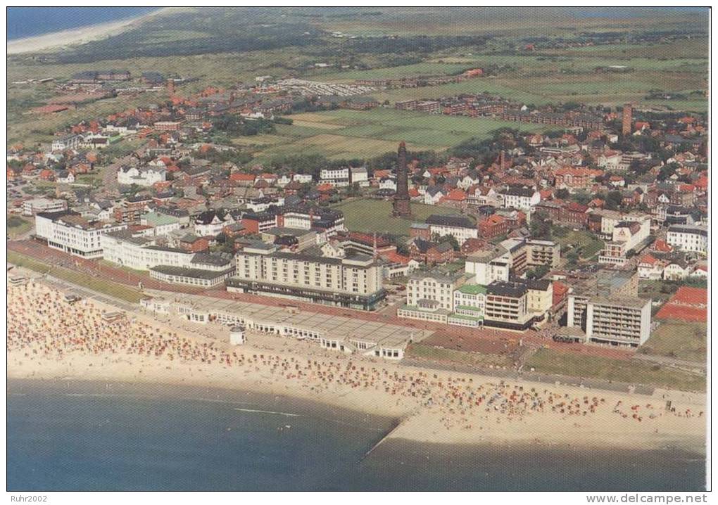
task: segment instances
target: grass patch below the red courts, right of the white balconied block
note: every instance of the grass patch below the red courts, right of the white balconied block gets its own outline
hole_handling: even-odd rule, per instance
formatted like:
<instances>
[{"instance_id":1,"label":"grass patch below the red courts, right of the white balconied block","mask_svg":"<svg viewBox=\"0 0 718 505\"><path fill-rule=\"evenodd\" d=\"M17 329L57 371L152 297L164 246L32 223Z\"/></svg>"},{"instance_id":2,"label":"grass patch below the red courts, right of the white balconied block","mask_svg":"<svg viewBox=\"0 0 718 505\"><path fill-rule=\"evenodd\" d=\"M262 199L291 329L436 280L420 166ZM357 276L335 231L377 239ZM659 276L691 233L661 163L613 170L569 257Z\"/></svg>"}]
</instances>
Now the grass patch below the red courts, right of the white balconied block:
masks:
<instances>
[{"instance_id":1,"label":"grass patch below the red courts, right of the white balconied block","mask_svg":"<svg viewBox=\"0 0 718 505\"><path fill-rule=\"evenodd\" d=\"M707 325L666 321L651 333L651 338L643 344L640 351L645 354L704 362L707 356Z\"/></svg>"}]
</instances>

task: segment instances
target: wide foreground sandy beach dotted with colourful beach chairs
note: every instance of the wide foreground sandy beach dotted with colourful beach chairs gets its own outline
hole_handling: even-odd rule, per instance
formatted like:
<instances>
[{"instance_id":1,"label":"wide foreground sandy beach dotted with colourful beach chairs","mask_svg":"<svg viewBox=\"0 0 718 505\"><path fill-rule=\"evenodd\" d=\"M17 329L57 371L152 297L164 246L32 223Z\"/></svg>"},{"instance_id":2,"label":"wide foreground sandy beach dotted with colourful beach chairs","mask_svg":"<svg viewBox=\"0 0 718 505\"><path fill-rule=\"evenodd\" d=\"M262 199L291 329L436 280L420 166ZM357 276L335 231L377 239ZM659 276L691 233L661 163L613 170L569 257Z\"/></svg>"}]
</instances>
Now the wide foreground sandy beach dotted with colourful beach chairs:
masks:
<instances>
[{"instance_id":1,"label":"wide foreground sandy beach dotted with colourful beach chairs","mask_svg":"<svg viewBox=\"0 0 718 505\"><path fill-rule=\"evenodd\" d=\"M705 395L653 396L421 370L248 334L230 346L220 326L136 311L110 323L96 301L68 304L40 282L10 285L8 374L220 387L286 395L401 420L390 438L459 444L703 452ZM215 338L212 338L212 334ZM666 410L666 400L673 410Z\"/></svg>"}]
</instances>

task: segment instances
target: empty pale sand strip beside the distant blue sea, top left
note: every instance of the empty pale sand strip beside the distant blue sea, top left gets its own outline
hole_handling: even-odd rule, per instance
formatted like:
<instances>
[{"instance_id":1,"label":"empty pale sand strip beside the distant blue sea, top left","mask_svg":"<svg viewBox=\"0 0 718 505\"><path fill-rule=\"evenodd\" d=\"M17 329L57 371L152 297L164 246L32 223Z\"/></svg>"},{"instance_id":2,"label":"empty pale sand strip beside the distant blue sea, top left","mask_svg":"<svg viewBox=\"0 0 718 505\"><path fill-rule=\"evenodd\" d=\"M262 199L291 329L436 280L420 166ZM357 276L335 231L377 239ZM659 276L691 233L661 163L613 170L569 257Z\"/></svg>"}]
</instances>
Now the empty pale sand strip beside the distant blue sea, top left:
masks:
<instances>
[{"instance_id":1,"label":"empty pale sand strip beside the distant blue sea, top left","mask_svg":"<svg viewBox=\"0 0 718 505\"><path fill-rule=\"evenodd\" d=\"M137 24L150 19L152 16L167 13L177 9L176 7L165 7L143 16L136 16L121 21L93 24L88 27L79 27L62 32L54 32L36 37L25 37L24 39L10 40L7 42L7 54L19 55L24 52L47 51L73 44L85 44L93 40L103 39L123 32L128 27L134 27Z\"/></svg>"}]
</instances>

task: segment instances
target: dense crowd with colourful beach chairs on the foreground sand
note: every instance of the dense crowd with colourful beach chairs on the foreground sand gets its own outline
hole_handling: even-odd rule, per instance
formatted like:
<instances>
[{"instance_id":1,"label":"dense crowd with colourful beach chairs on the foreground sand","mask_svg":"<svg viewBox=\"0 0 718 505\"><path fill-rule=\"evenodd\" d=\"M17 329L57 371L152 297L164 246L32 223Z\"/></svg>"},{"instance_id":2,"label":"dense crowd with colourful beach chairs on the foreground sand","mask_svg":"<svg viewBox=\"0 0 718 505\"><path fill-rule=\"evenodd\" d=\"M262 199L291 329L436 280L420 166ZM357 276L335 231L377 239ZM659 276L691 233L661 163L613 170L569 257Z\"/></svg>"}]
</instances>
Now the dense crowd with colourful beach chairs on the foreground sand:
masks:
<instances>
[{"instance_id":1,"label":"dense crowd with colourful beach chairs on the foreground sand","mask_svg":"<svg viewBox=\"0 0 718 505\"><path fill-rule=\"evenodd\" d=\"M9 366L22 369L42 361L64 362L71 367L76 358L89 356L97 358L95 367L139 362L141 367L135 373L145 372L146 377L149 367L189 364L194 367L193 374L202 369L220 370L244 377L246 384L269 380L288 386L289 395L292 390L302 390L327 402L337 392L362 392L364 400L371 393L369 398L376 402L401 407L406 417L432 412L434 421L440 423L438 428L445 430L481 432L490 425L520 424L536 415L567 426L579 426L594 416L600 416L601 423L614 419L644 424L663 417L703 416L688 406L667 410L660 400L646 401L651 397L638 395L617 397L594 390L449 374L330 351L302 355L230 346L228 341L188 334L179 325L154 324L131 313L117 317L108 314L106 306L87 299L68 301L65 293L39 281L9 285ZM81 374L79 368L77 373ZM176 377L169 379L169 373L168 382L172 382Z\"/></svg>"}]
</instances>

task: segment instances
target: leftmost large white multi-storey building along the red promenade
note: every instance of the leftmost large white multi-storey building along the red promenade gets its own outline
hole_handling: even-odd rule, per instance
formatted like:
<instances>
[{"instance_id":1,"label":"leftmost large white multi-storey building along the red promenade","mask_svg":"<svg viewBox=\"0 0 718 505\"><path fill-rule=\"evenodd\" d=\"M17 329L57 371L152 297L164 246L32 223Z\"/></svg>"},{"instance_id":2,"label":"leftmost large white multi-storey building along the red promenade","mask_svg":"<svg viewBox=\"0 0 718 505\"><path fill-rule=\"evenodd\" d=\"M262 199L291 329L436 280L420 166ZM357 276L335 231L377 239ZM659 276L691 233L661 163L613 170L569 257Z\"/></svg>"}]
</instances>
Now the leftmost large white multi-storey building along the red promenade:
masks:
<instances>
[{"instance_id":1,"label":"leftmost large white multi-storey building along the red promenade","mask_svg":"<svg viewBox=\"0 0 718 505\"><path fill-rule=\"evenodd\" d=\"M47 246L83 258L102 258L101 237L123 230L123 223L88 221L77 212L40 212L35 216L35 233Z\"/></svg>"}]
</instances>

